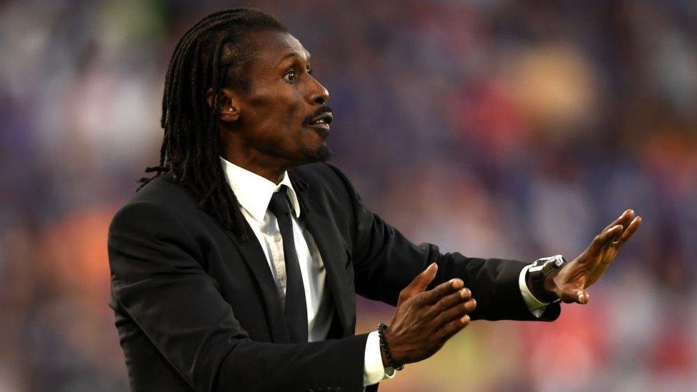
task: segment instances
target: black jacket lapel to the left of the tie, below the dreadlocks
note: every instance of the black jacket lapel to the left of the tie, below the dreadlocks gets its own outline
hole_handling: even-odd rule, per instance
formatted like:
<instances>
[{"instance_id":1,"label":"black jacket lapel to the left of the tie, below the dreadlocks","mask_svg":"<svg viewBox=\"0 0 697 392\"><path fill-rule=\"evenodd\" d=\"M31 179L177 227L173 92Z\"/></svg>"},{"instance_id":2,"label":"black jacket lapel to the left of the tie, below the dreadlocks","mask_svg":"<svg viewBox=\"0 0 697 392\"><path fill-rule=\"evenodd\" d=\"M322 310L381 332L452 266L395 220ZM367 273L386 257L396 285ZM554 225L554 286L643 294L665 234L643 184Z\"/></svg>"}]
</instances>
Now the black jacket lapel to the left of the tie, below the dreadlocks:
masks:
<instances>
[{"instance_id":1,"label":"black jacket lapel to the left of the tie, below the dreadlocks","mask_svg":"<svg viewBox=\"0 0 697 392\"><path fill-rule=\"evenodd\" d=\"M247 224L247 229L251 233L249 224ZM259 284L261 295L264 297L266 305L266 316L269 320L271 338L274 343L289 343L290 338L288 328L286 328L286 319L281 309L281 298L279 298L274 276L271 274L269 264L266 263L266 256L264 256L264 250L261 249L259 241L256 241L254 237L249 238L249 241L246 242L239 241L231 231L225 230L225 233L239 249L244 263L254 274L256 283Z\"/></svg>"}]
</instances>

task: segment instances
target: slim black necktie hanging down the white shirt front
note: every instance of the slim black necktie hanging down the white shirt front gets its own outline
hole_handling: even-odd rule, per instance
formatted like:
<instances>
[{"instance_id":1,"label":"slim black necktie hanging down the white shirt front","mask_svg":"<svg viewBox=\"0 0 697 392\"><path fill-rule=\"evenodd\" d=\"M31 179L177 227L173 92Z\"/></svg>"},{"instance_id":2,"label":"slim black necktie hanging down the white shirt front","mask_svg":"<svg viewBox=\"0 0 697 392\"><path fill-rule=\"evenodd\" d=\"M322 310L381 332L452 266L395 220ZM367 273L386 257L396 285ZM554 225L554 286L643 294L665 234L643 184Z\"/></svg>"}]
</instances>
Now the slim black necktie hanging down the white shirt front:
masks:
<instances>
[{"instance_id":1,"label":"slim black necktie hanging down the white shirt front","mask_svg":"<svg viewBox=\"0 0 697 392\"><path fill-rule=\"evenodd\" d=\"M300 273L298 253L295 251L293 238L293 221L291 208L286 197L286 187L271 196L269 210L276 216L281 229L286 263L286 326L291 343L307 343L307 308L305 303L305 286Z\"/></svg>"}]
</instances>

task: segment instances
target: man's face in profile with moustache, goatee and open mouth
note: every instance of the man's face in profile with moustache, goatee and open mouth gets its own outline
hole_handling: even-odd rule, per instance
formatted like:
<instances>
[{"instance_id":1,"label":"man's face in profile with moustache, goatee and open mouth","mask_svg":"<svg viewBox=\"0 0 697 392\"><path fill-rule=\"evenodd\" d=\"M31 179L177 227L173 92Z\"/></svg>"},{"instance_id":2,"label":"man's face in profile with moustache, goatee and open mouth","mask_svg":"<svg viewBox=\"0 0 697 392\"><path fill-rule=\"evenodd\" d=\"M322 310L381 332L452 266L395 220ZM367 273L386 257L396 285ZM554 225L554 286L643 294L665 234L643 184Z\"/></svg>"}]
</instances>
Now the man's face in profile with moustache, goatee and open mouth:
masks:
<instances>
[{"instance_id":1,"label":"man's face in profile with moustache, goatee and open mouth","mask_svg":"<svg viewBox=\"0 0 697 392\"><path fill-rule=\"evenodd\" d=\"M235 94L233 103L241 144L284 166L328 159L329 91L311 76L309 52L288 33L266 31L251 39L256 56L249 91Z\"/></svg>"}]
</instances>

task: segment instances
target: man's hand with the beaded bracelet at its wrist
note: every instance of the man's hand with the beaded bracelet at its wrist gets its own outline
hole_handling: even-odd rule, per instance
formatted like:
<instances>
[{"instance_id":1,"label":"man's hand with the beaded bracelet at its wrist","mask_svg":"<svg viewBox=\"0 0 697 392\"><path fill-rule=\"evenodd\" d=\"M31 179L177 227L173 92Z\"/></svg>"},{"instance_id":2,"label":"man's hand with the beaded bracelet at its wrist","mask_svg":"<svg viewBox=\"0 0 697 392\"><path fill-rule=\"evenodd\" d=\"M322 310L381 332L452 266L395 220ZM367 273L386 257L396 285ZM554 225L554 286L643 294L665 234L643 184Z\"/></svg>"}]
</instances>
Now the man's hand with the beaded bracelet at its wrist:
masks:
<instances>
[{"instance_id":1,"label":"man's hand with the beaded bracelet at its wrist","mask_svg":"<svg viewBox=\"0 0 697 392\"><path fill-rule=\"evenodd\" d=\"M385 339L397 363L432 356L467 326L467 313L476 308L471 291L461 279L451 279L425 291L437 270L438 265L431 264L399 293L397 309L385 330ZM384 354L383 363L388 366Z\"/></svg>"}]
</instances>

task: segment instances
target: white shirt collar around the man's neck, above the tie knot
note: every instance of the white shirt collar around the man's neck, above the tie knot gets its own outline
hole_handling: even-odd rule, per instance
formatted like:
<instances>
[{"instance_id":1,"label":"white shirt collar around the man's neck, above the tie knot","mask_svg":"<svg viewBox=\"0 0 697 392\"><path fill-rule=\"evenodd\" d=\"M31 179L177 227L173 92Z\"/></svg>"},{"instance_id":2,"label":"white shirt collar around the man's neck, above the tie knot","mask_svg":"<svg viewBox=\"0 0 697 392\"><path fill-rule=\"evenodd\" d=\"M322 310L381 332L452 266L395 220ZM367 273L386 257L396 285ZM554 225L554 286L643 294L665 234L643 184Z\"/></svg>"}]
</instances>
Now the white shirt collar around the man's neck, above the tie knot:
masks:
<instances>
[{"instance_id":1,"label":"white shirt collar around the man's neck, above the tie knot","mask_svg":"<svg viewBox=\"0 0 697 392\"><path fill-rule=\"evenodd\" d=\"M243 169L230 161L227 161L222 156L220 157L221 165L225 171L225 178L230 184L232 191L235 193L237 201L242 208L246 209L249 214L259 221L264 221L264 215L269 208L269 202L274 192L279 191L281 186L287 186L286 195L293 207L296 218L300 217L300 203L298 196L293 189L291 179L288 172L284 171L283 179L276 185L273 182L265 179L259 174L252 173L249 170Z\"/></svg>"}]
</instances>

